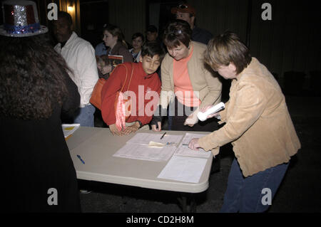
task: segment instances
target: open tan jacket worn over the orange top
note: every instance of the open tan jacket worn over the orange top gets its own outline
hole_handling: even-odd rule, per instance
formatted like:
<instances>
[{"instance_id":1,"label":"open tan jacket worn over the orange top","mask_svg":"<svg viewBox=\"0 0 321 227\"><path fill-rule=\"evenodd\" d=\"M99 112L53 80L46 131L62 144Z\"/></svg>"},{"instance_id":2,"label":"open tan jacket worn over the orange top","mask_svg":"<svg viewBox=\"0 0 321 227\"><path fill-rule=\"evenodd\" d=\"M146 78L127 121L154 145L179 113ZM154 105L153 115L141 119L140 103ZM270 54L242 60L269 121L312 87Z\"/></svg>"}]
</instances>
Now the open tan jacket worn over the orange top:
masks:
<instances>
[{"instance_id":1,"label":"open tan jacket worn over the orange top","mask_svg":"<svg viewBox=\"0 0 321 227\"><path fill-rule=\"evenodd\" d=\"M191 45L193 45L193 55L188 61L188 75L194 92L199 92L195 95L201 101L200 107L217 104L221 98L222 83L218 75L205 67L203 58L206 45L194 41ZM162 88L159 103L163 108L166 108L174 98L173 61L174 59L167 53L161 65Z\"/></svg>"}]
</instances>

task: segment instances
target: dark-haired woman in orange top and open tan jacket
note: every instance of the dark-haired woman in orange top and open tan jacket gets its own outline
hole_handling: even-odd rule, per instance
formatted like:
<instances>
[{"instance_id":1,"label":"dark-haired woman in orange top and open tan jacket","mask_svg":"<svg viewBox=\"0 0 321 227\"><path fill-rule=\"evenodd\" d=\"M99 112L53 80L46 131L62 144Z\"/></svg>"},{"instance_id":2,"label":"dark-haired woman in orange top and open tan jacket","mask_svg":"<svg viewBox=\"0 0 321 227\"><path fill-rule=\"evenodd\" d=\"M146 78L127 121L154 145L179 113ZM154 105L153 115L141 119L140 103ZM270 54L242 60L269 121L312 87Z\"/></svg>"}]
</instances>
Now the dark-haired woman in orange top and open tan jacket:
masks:
<instances>
[{"instance_id":1,"label":"dark-haired woman in orange top and open tan jacket","mask_svg":"<svg viewBox=\"0 0 321 227\"><path fill-rule=\"evenodd\" d=\"M153 131L161 131L162 116L173 117L171 130L211 132L215 120L198 122L199 107L220 102L222 84L203 61L206 46L191 41L192 30L183 20L168 23L163 41L168 50L161 65L161 97L151 122ZM188 126L187 126L188 125Z\"/></svg>"}]
</instances>

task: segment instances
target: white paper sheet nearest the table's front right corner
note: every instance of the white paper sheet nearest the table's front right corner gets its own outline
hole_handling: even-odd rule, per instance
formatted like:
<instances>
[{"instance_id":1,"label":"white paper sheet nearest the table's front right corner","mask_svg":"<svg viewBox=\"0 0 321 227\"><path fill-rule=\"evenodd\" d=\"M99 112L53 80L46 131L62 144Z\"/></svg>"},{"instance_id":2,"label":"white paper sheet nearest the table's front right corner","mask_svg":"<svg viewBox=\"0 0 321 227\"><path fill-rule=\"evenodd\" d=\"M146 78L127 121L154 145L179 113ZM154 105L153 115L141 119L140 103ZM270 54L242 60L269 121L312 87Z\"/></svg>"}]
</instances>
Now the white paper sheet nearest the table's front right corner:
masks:
<instances>
[{"instance_id":1,"label":"white paper sheet nearest the table's front right corner","mask_svg":"<svg viewBox=\"0 0 321 227\"><path fill-rule=\"evenodd\" d=\"M174 155L161 171L161 174L158 175L158 178L198 183L206 162L207 159Z\"/></svg>"}]
</instances>

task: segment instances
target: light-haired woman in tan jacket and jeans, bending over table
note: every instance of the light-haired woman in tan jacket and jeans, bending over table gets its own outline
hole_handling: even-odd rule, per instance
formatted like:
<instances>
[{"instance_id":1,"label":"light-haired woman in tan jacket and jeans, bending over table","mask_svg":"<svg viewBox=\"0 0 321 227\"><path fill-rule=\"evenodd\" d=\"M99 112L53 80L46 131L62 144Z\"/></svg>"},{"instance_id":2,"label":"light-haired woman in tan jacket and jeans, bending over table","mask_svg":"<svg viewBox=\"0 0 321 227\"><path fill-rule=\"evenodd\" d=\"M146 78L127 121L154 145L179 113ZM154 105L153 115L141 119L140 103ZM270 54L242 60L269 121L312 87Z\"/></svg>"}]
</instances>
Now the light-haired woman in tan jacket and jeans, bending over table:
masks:
<instances>
[{"instance_id":1,"label":"light-haired woman in tan jacket and jeans, bending over table","mask_svg":"<svg viewBox=\"0 0 321 227\"><path fill-rule=\"evenodd\" d=\"M218 147L232 142L234 159L221 212L263 212L287 170L290 157L300 149L285 97L273 75L237 35L225 32L208 43L205 62L225 79L232 80L225 110L216 130L192 139L199 147L218 154ZM204 112L208 107L202 108Z\"/></svg>"}]
</instances>

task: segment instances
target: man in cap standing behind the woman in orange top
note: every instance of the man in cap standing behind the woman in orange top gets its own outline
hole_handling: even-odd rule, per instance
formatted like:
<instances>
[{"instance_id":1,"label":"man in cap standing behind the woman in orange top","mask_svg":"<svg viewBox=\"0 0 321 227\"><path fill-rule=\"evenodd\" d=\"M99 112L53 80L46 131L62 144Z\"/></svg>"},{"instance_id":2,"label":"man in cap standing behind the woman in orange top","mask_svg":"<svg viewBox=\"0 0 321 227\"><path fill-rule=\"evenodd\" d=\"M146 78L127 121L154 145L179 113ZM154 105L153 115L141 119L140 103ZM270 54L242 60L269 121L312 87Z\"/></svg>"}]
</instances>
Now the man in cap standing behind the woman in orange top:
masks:
<instances>
[{"instance_id":1,"label":"man in cap standing behind the woman in orange top","mask_svg":"<svg viewBox=\"0 0 321 227\"><path fill-rule=\"evenodd\" d=\"M195 26L196 11L193 6L190 6L189 4L179 4L178 6L173 7L171 12L176 15L176 19L186 21L190 24L190 28L192 28L193 31L193 41L208 45L208 41L213 38L213 35L209 31Z\"/></svg>"}]
</instances>

